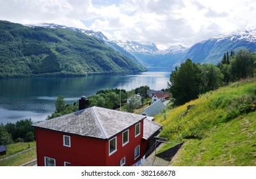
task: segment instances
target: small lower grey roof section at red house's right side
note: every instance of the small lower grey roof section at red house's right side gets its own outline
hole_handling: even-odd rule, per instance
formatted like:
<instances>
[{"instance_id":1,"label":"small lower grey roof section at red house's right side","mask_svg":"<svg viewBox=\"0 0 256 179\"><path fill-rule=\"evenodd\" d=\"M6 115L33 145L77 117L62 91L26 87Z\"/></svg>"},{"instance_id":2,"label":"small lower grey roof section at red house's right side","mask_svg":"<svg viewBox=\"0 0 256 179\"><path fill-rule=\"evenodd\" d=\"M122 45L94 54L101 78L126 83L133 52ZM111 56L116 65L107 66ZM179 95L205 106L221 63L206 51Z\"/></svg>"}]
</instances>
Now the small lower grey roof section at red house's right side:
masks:
<instances>
[{"instance_id":1,"label":"small lower grey roof section at red house's right side","mask_svg":"<svg viewBox=\"0 0 256 179\"><path fill-rule=\"evenodd\" d=\"M143 138L149 139L162 125L155 123L154 121L148 120L147 118L143 122Z\"/></svg>"}]
</instances>

